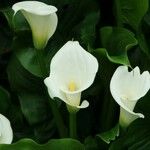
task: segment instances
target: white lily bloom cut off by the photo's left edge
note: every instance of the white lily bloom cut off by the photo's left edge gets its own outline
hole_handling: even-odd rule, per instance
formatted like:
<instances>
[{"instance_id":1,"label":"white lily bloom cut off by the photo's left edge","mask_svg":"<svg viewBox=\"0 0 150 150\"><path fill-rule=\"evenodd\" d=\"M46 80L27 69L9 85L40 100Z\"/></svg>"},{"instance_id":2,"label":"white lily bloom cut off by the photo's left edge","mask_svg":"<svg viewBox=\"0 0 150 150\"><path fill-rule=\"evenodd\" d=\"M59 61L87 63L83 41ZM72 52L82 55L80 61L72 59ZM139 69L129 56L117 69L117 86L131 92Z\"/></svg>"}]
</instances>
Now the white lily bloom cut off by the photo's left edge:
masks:
<instances>
[{"instance_id":1,"label":"white lily bloom cut off by the photo's left edge","mask_svg":"<svg viewBox=\"0 0 150 150\"><path fill-rule=\"evenodd\" d=\"M0 144L11 144L13 132L9 120L0 114Z\"/></svg>"}]
</instances>

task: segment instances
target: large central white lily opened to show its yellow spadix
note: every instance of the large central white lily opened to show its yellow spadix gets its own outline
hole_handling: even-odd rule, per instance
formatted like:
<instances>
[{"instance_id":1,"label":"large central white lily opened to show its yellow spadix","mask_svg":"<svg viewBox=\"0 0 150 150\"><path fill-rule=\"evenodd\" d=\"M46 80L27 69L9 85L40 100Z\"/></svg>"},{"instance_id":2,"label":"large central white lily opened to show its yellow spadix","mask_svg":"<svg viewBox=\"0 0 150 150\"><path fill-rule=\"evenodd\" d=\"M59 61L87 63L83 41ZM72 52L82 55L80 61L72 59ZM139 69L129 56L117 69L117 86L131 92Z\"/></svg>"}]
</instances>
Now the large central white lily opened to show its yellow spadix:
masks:
<instances>
[{"instance_id":1,"label":"large central white lily opened to show its yellow spadix","mask_svg":"<svg viewBox=\"0 0 150 150\"><path fill-rule=\"evenodd\" d=\"M86 100L80 105L81 92L93 83L97 70L97 59L79 42L69 41L53 57L44 83L51 98L58 97L77 111L89 105Z\"/></svg>"}]
</instances>

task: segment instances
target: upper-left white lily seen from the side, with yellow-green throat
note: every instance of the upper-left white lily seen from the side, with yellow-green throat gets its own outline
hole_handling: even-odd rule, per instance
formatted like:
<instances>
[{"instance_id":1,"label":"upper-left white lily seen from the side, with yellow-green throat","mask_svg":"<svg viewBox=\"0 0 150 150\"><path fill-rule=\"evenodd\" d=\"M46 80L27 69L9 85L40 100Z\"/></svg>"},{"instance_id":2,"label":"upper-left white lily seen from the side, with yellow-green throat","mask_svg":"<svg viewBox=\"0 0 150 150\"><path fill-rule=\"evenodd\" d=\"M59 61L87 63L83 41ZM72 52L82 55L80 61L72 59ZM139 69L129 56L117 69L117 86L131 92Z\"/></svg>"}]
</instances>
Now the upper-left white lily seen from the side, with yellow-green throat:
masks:
<instances>
[{"instance_id":1,"label":"upper-left white lily seen from the side, with yellow-green throat","mask_svg":"<svg viewBox=\"0 0 150 150\"><path fill-rule=\"evenodd\" d=\"M43 49L56 30L57 8L38 1L23 1L14 4L12 9L15 14L22 12L31 27L35 48Z\"/></svg>"}]
</instances>

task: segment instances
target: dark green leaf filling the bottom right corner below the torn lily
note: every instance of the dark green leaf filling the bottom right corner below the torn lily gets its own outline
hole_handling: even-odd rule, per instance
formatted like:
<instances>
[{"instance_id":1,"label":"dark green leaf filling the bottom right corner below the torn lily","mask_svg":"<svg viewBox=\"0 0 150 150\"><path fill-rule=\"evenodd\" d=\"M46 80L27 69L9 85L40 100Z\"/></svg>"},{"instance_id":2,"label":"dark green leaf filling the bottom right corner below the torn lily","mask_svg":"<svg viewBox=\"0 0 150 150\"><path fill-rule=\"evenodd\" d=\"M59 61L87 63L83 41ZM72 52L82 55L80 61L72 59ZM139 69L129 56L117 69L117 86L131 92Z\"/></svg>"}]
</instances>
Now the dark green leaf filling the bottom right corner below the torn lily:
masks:
<instances>
[{"instance_id":1,"label":"dark green leaf filling the bottom right corner below the torn lily","mask_svg":"<svg viewBox=\"0 0 150 150\"><path fill-rule=\"evenodd\" d=\"M137 119L125 134L112 143L110 150L148 150L150 148L149 120Z\"/></svg>"}]
</instances>

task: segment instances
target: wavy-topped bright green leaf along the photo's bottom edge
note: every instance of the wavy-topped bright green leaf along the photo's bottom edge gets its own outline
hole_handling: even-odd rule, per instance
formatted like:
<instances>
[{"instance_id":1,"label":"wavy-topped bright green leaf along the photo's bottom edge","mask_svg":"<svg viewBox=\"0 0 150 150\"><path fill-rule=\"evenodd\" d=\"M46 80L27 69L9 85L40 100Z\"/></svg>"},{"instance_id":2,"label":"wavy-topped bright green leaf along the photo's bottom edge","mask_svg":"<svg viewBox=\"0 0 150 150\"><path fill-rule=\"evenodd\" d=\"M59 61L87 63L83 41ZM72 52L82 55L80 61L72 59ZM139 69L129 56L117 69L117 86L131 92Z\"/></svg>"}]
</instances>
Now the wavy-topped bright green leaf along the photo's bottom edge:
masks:
<instances>
[{"instance_id":1,"label":"wavy-topped bright green leaf along the photo's bottom edge","mask_svg":"<svg viewBox=\"0 0 150 150\"><path fill-rule=\"evenodd\" d=\"M0 144L1 150L84 150L84 146L74 139L50 140L40 145L31 139L22 139L13 144Z\"/></svg>"}]
</instances>

